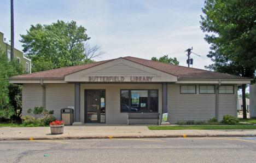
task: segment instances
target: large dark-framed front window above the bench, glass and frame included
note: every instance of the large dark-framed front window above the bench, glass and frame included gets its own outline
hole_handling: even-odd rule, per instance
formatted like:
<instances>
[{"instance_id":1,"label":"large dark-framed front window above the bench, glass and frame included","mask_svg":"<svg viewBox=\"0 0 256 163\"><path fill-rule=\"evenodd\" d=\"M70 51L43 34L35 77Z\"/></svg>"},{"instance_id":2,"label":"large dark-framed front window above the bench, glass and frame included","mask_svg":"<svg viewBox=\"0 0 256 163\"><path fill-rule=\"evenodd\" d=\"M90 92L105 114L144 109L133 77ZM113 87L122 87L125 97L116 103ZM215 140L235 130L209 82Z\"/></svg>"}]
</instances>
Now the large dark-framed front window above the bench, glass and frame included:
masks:
<instances>
[{"instance_id":1,"label":"large dark-framed front window above the bench, glass and frame included","mask_svg":"<svg viewBox=\"0 0 256 163\"><path fill-rule=\"evenodd\" d=\"M121 112L158 113L158 90L121 90Z\"/></svg>"}]
</instances>

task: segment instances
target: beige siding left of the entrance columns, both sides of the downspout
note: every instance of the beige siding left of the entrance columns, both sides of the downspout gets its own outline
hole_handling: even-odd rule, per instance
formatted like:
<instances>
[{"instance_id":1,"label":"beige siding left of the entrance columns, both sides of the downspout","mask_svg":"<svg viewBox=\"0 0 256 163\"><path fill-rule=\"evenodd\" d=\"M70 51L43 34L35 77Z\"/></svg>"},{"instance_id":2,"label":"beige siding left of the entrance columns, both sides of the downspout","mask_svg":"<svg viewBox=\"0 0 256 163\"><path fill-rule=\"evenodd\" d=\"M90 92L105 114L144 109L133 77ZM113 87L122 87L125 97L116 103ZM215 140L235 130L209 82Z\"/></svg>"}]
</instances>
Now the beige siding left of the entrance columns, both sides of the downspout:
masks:
<instances>
[{"instance_id":1,"label":"beige siding left of the entrance columns, both sides of the downspout","mask_svg":"<svg viewBox=\"0 0 256 163\"><path fill-rule=\"evenodd\" d=\"M74 106L74 84L44 84L45 109L54 110L54 116L60 120L60 110ZM22 95L22 116L27 109L43 106L43 88L40 84L24 84Z\"/></svg>"}]
</instances>

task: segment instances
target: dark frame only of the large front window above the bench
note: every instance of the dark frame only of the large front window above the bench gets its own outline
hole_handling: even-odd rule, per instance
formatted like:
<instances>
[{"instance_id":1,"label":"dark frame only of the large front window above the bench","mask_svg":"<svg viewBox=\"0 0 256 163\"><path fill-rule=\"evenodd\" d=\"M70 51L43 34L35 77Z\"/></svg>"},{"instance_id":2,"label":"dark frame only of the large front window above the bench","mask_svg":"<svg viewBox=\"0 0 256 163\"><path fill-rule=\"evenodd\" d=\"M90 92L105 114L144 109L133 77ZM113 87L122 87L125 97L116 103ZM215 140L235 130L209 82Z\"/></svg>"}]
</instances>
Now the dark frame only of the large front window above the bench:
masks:
<instances>
[{"instance_id":1,"label":"dark frame only of the large front window above the bench","mask_svg":"<svg viewBox=\"0 0 256 163\"><path fill-rule=\"evenodd\" d=\"M129 98L129 104L128 104L128 112L122 112L121 111L121 92L122 91L128 91L128 98ZM150 112L148 111L147 113L159 113L159 90L158 89L120 89L120 113L134 113L134 112L131 112L131 91L148 91L148 97L147 97L147 103L148 103L148 110L150 110L150 91L157 91L157 98L158 98L158 110L157 112ZM137 113L141 113L141 112L137 112Z\"/></svg>"}]
</instances>

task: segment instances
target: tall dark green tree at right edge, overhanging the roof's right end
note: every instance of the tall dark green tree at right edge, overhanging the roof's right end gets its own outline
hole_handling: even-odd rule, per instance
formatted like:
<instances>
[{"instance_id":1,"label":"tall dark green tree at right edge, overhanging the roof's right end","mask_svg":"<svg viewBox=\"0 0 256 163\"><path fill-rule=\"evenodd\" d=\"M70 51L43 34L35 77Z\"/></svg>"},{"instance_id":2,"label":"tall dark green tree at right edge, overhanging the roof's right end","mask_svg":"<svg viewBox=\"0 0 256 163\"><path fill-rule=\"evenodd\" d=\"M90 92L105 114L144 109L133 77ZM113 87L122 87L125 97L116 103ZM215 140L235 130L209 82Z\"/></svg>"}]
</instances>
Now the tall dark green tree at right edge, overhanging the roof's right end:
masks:
<instances>
[{"instance_id":1,"label":"tall dark green tree at right edge, overhanging the roof's right end","mask_svg":"<svg viewBox=\"0 0 256 163\"><path fill-rule=\"evenodd\" d=\"M208 0L202 8L201 30L211 44L207 55L214 62L213 71L255 78L256 1ZM246 119L246 85L242 85L243 119Z\"/></svg>"}]
</instances>

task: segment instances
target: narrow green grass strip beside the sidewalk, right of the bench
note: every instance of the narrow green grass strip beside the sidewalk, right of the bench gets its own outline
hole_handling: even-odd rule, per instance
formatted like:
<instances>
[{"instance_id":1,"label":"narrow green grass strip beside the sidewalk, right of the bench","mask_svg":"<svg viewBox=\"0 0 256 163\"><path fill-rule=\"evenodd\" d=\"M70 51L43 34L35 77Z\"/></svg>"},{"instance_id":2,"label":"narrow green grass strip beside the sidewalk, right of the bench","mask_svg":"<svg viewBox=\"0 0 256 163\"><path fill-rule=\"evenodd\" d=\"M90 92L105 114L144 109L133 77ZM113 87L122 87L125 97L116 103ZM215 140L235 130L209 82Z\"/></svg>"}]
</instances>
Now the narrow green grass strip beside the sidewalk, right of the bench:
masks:
<instances>
[{"instance_id":1,"label":"narrow green grass strip beside the sidewalk, right of the bench","mask_svg":"<svg viewBox=\"0 0 256 163\"><path fill-rule=\"evenodd\" d=\"M252 125L230 125L230 126L148 126L149 130L229 130L229 129L256 129L256 126Z\"/></svg>"}]
</instances>

